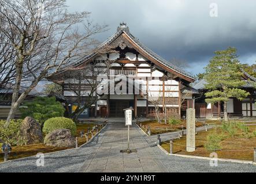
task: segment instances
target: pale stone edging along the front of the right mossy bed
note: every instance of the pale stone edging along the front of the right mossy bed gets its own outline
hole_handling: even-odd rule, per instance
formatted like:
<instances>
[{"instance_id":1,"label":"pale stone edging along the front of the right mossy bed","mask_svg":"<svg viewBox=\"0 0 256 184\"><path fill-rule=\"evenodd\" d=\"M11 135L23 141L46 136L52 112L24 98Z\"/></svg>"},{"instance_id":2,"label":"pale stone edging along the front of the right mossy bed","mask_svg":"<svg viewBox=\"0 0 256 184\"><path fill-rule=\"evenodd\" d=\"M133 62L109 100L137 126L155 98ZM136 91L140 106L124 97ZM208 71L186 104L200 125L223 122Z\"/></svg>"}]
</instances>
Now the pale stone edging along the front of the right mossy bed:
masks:
<instances>
[{"instance_id":1,"label":"pale stone edging along the front of the right mossy bed","mask_svg":"<svg viewBox=\"0 0 256 184\"><path fill-rule=\"evenodd\" d=\"M184 158L191 158L191 159L203 159L203 160L212 160L213 158L206 157L206 156L194 156L194 155L180 155L180 154L170 154L168 151L166 151L164 148L161 147L161 145L157 144L158 148L162 150L166 155L172 155L172 156L180 156ZM218 161L221 162L232 162L232 163L243 163L243 164L253 164L256 166L256 162L248 161L248 160L235 160L235 159L221 159L218 158Z\"/></svg>"}]
</instances>

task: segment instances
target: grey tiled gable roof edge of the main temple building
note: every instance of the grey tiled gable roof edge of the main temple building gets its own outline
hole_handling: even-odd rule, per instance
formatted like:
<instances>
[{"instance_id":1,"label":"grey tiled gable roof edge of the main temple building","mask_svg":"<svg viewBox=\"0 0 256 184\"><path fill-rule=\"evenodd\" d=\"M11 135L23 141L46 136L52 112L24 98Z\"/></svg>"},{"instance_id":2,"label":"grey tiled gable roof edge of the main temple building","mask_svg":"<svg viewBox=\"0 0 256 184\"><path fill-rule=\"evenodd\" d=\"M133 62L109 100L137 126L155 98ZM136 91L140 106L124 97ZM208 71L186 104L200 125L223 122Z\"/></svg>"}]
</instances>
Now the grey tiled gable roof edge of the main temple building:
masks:
<instances>
[{"instance_id":1,"label":"grey tiled gable roof edge of the main temple building","mask_svg":"<svg viewBox=\"0 0 256 184\"><path fill-rule=\"evenodd\" d=\"M124 23L123 23L124 24ZM184 70L182 70L181 68L175 66L174 64L168 62L167 60L163 59L161 56L157 55L157 53L151 51L151 49L149 49L148 47L146 47L145 45L143 45L142 43L139 42L138 39L136 39L130 32L129 32L129 28L127 26L121 26L123 24L120 24L120 26L117 28L117 32L109 37L109 39L107 39L105 42L103 42L101 45L99 45L97 48L103 48L106 47L107 45L109 45L110 43L112 43L115 39L117 39L118 36L120 36L121 33L125 33L127 34L127 36L136 44L138 45L141 49L143 49L144 52L146 52L147 54L149 54L151 57L153 57L155 60L157 60L159 63L164 64L166 67L171 68L172 70L175 70L176 72L179 72L182 75L187 76L188 78L194 79L195 78L193 76L191 76L190 74L188 74L187 72L185 72ZM93 52L90 53L89 55L87 55L86 57L83 57L82 59L80 59L78 62L73 63L71 66L75 67L78 66L79 64L86 62L86 60L90 59L91 57L97 55L97 53Z\"/></svg>"}]
</instances>

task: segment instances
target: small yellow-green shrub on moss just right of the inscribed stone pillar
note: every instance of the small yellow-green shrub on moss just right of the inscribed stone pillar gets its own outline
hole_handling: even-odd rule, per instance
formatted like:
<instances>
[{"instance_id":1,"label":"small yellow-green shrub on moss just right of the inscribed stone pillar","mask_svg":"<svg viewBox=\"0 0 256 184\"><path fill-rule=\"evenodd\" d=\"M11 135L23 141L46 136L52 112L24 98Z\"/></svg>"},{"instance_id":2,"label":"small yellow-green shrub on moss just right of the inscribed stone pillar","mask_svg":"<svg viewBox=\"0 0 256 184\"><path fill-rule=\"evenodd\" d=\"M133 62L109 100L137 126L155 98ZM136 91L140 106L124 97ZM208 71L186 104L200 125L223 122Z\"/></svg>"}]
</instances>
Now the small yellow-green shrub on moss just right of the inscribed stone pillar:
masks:
<instances>
[{"instance_id":1,"label":"small yellow-green shrub on moss just right of the inscribed stone pillar","mask_svg":"<svg viewBox=\"0 0 256 184\"><path fill-rule=\"evenodd\" d=\"M222 136L217 135L216 133L208 135L205 143L206 150L210 152L220 150L221 140L222 140Z\"/></svg>"}]
</instances>

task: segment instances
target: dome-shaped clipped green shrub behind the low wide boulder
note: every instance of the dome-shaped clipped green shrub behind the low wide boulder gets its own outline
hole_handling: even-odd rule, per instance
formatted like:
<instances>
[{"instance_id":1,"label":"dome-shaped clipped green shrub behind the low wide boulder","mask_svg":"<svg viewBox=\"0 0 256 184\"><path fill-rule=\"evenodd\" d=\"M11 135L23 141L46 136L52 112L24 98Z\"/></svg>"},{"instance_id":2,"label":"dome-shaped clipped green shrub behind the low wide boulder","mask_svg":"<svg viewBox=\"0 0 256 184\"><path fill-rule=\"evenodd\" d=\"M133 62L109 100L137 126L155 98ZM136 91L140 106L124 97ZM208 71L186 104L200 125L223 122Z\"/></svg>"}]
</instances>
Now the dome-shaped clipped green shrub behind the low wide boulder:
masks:
<instances>
[{"instance_id":1,"label":"dome-shaped clipped green shrub behind the low wide boulder","mask_svg":"<svg viewBox=\"0 0 256 184\"><path fill-rule=\"evenodd\" d=\"M47 134L56 129L69 129L72 135L76 133L76 124L69 118L53 117L44 122L43 133Z\"/></svg>"}]
</instances>

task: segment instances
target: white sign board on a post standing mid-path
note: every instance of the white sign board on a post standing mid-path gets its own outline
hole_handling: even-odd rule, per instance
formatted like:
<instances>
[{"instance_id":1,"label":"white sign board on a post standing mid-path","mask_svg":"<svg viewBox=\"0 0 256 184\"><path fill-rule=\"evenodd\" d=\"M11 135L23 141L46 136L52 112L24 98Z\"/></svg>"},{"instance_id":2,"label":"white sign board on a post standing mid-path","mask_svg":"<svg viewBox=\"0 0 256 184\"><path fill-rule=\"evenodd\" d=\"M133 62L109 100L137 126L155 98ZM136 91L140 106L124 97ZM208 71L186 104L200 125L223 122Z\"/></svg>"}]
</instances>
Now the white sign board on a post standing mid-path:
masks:
<instances>
[{"instance_id":1,"label":"white sign board on a post standing mid-path","mask_svg":"<svg viewBox=\"0 0 256 184\"><path fill-rule=\"evenodd\" d=\"M137 152L137 150L130 150L130 125L132 125L132 110L133 108L130 107L128 109L124 109L125 113L125 125L128 127L128 144L127 144L127 150L120 150L120 152L127 152L127 154L130 154L131 152Z\"/></svg>"}]
</instances>

